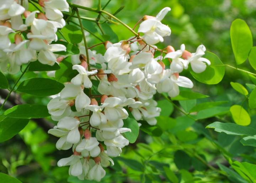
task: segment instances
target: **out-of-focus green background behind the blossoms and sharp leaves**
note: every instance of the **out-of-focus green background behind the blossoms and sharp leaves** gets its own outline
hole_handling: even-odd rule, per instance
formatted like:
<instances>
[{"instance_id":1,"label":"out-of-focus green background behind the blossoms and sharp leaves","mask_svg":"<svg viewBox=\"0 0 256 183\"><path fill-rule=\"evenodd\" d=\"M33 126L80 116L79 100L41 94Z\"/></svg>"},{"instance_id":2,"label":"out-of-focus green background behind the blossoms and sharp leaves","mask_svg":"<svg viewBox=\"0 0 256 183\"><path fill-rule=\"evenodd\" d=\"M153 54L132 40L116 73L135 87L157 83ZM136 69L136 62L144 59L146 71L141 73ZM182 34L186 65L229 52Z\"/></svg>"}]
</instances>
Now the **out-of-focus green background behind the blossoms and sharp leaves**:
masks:
<instances>
[{"instance_id":1,"label":"out-of-focus green background behind the blossoms and sharp leaves","mask_svg":"<svg viewBox=\"0 0 256 183\"><path fill-rule=\"evenodd\" d=\"M73 2L88 7L97 7L96 0L74 0ZM102 5L106 3L107 0L102 0ZM203 44L207 51L218 55L224 64L236 67L229 30L232 21L236 18L246 21L255 42L256 0L112 0L105 10L113 14L122 6L124 8L116 14L116 17L130 27L133 27L144 15L156 16L162 8L171 7L171 11L162 23L169 25L172 33L170 37L165 37L165 42L158 44L160 48L172 45L175 49L179 49L181 44L185 44L186 50L195 52L197 46ZM91 12L81 12L86 17L95 18L96 16ZM84 21L84 26L96 35L100 35L94 23ZM107 23L103 30L111 35L112 41L120 41L133 36L129 30L119 24ZM87 37L89 46L99 43L90 34L87 34ZM105 51L103 46L96 47L95 50L101 53ZM254 72L248 62L239 65L239 68ZM24 78L29 78L36 74L26 73L25 75ZM46 73L42 75L46 76ZM189 73L185 72L183 75L192 78ZM18 75L9 76L10 83L14 82L17 77ZM230 87L231 81L243 85L251 83L248 75L229 68L226 68L224 79L218 85L205 85L193 80L193 91L209 95L208 101L228 101L222 105L222 111L216 115L217 117L208 116L209 118L200 120L196 122L197 124L181 116L182 114L160 95L156 96L155 99L158 99L159 107L162 108L158 119L159 128L151 129L151 131L141 130L137 142L124 148L121 157L114 159L115 165L107 169L107 175L102 181L169 182L167 174L172 175L171 172L174 172L181 182L189 182L192 179L195 179L195 182L226 181L225 177L218 176L216 172L208 172L208 168L201 161L187 157L186 153L189 154L189 151L186 149L190 149L208 162L224 162L220 150L214 147L210 138L206 138L207 135L217 141L219 139L221 148L234 157L240 155L245 160L255 163L256 155L252 147L242 146L239 139L233 136L225 136L223 133L215 134L213 131L204 129L217 119L231 121L226 106L242 103L244 98ZM43 104L49 101L46 98L31 97L26 94L21 96L21 100L27 103ZM194 103L194 101L190 102L191 105ZM206 102L206 100L197 101L197 103L201 102ZM182 103L177 103L177 105L183 107ZM245 108L247 108L246 105ZM225 115L222 116L222 114ZM166 125L165 121L168 116L171 116L167 119L170 123ZM251 111L251 118L252 121L255 119L253 111ZM47 120L51 121L51 119ZM254 123L251 125L256 126ZM153 137L148 135L150 133ZM56 142L57 138L48 135L46 130L38 126L36 122L30 121L18 135L0 144L0 172L9 173L24 183L91 182L69 177L68 167L57 167L57 161L70 156L71 150L58 151L55 148ZM162 150L164 147L165 150ZM246 153L251 156L249 157ZM170 167L171 172L166 172L163 167Z\"/></svg>"}]
</instances>

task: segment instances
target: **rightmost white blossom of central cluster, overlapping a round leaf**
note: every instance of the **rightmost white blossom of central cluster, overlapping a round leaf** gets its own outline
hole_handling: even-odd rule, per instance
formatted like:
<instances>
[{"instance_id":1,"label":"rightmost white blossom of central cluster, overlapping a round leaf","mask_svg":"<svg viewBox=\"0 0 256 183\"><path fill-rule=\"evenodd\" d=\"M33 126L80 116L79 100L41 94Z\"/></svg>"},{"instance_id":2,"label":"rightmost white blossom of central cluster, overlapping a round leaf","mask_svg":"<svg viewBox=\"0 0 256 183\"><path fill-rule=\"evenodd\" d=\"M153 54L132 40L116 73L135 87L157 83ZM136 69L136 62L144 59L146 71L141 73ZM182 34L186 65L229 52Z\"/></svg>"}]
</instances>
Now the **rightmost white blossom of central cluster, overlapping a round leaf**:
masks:
<instances>
[{"instance_id":1,"label":"rightmost white blossom of central cluster, overlapping a round leaf","mask_svg":"<svg viewBox=\"0 0 256 183\"><path fill-rule=\"evenodd\" d=\"M188 63L191 64L191 68L195 73L202 73L206 69L206 63L210 65L210 61L206 58L202 58L205 54L206 47L199 45L196 53L192 53L191 57L188 57Z\"/></svg>"}]
</instances>

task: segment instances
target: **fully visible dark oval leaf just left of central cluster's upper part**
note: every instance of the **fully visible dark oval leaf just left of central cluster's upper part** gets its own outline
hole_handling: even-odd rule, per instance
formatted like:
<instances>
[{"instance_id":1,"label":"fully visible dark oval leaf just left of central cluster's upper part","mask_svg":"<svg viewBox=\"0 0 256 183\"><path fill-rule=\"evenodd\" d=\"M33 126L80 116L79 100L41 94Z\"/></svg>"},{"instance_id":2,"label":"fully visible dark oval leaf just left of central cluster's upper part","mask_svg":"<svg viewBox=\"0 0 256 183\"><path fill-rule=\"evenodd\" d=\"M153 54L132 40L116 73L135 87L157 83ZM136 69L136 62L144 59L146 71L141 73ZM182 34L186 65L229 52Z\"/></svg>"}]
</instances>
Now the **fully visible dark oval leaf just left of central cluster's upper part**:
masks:
<instances>
[{"instance_id":1,"label":"fully visible dark oval leaf just left of central cluster's upper part","mask_svg":"<svg viewBox=\"0 0 256 183\"><path fill-rule=\"evenodd\" d=\"M59 93L64 85L48 78L31 78L23 81L17 91L36 96L50 96Z\"/></svg>"}]
</instances>

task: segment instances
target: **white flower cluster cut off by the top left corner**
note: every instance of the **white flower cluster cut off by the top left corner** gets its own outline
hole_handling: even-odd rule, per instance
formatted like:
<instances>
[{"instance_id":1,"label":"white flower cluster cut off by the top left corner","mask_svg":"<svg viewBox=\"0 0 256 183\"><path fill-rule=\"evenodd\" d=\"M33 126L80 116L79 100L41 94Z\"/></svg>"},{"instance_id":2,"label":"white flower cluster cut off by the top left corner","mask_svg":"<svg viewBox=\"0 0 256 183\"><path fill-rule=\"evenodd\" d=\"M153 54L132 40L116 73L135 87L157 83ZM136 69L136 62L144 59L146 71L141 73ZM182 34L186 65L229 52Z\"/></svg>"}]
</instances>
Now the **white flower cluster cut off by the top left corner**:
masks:
<instances>
[{"instance_id":1,"label":"white flower cluster cut off by the top left corner","mask_svg":"<svg viewBox=\"0 0 256 183\"><path fill-rule=\"evenodd\" d=\"M54 65L57 58L53 52L66 50L64 45L51 43L58 40L57 29L65 26L61 11L69 11L68 3L66 0L39 0L39 4L45 13L27 11L28 0L0 1L2 71L16 74L22 64L37 59L42 64ZM13 42L10 33L15 34Z\"/></svg>"}]
</instances>

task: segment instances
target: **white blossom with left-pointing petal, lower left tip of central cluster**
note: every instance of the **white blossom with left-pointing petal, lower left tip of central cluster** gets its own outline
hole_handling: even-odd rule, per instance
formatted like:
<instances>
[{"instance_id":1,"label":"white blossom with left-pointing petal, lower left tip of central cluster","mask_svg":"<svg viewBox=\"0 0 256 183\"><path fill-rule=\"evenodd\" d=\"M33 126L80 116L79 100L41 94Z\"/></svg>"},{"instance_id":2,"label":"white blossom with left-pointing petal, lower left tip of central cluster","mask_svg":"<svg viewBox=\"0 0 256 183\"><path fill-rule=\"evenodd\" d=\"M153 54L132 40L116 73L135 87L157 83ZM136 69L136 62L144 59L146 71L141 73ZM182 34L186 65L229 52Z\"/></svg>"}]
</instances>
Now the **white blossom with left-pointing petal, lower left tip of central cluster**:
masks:
<instances>
[{"instance_id":1,"label":"white blossom with left-pointing petal, lower left tip of central cluster","mask_svg":"<svg viewBox=\"0 0 256 183\"><path fill-rule=\"evenodd\" d=\"M69 175L79 176L82 174L82 171L83 171L81 158L82 156L79 156L79 155L71 155L69 158L60 159L57 165L59 167L70 166Z\"/></svg>"}]
</instances>

